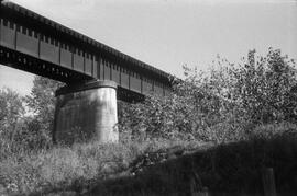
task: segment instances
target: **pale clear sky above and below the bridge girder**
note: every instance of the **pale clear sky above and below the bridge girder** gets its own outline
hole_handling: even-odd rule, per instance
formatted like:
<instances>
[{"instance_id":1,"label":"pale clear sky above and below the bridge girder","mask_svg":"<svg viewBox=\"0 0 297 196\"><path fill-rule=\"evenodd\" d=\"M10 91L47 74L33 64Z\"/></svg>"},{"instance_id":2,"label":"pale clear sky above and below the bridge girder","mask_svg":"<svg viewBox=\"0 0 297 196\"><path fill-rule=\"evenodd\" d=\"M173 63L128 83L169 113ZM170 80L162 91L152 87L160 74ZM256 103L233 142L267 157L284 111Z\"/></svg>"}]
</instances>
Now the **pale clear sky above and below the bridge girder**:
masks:
<instances>
[{"instance_id":1,"label":"pale clear sky above and below the bridge girder","mask_svg":"<svg viewBox=\"0 0 297 196\"><path fill-rule=\"evenodd\" d=\"M206 69L268 47L297 59L294 0L11 0L158 69ZM33 76L0 66L0 88L28 94Z\"/></svg>"}]
</instances>

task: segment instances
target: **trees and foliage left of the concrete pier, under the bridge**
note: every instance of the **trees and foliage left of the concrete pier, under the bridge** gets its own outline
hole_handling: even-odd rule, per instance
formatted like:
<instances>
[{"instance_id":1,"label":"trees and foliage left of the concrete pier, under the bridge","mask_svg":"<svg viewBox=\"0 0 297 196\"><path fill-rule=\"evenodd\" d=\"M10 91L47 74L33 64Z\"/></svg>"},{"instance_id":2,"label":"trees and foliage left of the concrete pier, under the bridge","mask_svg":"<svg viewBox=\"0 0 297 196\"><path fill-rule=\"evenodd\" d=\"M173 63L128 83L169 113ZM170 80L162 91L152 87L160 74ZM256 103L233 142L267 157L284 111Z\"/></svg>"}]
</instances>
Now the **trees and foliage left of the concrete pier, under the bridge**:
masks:
<instances>
[{"instance_id":1,"label":"trees and foliage left of the concrete pier, under the bridge","mask_svg":"<svg viewBox=\"0 0 297 196\"><path fill-rule=\"evenodd\" d=\"M0 91L0 160L52 146L54 91L61 83L35 77L30 96Z\"/></svg>"}]
</instances>

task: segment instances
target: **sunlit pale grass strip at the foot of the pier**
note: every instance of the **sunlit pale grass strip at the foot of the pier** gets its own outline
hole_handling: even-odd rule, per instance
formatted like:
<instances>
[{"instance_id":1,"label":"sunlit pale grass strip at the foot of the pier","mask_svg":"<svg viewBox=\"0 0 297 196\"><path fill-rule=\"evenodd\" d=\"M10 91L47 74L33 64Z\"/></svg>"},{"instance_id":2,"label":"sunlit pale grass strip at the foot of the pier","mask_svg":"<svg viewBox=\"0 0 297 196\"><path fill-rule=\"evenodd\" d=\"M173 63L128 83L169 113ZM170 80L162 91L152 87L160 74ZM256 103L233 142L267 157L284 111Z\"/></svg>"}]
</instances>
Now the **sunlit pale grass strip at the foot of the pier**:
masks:
<instances>
[{"instance_id":1,"label":"sunlit pale grass strip at the foot of the pier","mask_svg":"<svg viewBox=\"0 0 297 196\"><path fill-rule=\"evenodd\" d=\"M145 152L194 142L151 140L142 143L81 143L15 153L0 162L0 184L9 193L84 189L91 182L124 172ZM197 145L196 145L197 146Z\"/></svg>"}]
</instances>

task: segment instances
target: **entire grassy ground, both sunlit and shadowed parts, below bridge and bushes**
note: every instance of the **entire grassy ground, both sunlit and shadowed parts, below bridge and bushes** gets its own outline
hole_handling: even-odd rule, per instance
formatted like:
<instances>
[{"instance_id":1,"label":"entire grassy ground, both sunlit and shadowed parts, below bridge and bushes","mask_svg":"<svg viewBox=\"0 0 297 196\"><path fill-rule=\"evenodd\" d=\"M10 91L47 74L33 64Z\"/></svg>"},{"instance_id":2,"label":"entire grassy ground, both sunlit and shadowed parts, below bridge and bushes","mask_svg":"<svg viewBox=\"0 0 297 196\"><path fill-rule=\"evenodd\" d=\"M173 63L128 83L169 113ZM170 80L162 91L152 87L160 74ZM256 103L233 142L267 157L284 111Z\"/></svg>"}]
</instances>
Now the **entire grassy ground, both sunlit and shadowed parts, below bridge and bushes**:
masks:
<instances>
[{"instance_id":1,"label":"entire grassy ground, both sunlit and shadowed parts, below bridge and bushes","mask_svg":"<svg viewBox=\"0 0 297 196\"><path fill-rule=\"evenodd\" d=\"M217 146L158 139L20 149L0 159L0 185L9 194L21 195L61 191L183 195L196 175L198 189L207 186L219 193L261 193L260 171L272 166L277 189L297 193L296 132L296 125L283 123L256 127L250 140ZM175 149L183 149L183 155L168 155Z\"/></svg>"}]
</instances>

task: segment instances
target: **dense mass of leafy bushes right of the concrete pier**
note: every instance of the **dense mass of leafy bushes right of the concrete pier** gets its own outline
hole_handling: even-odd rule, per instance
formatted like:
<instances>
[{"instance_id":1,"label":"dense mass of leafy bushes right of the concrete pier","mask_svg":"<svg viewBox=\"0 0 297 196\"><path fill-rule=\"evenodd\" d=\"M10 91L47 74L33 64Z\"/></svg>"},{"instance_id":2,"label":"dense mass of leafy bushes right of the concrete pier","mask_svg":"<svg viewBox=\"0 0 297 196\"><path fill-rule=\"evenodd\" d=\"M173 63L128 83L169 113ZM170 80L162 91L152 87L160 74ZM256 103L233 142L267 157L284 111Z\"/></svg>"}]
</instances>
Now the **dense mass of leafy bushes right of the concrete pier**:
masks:
<instances>
[{"instance_id":1,"label":"dense mass of leafy bushes right of the concrete pier","mask_svg":"<svg viewBox=\"0 0 297 196\"><path fill-rule=\"evenodd\" d=\"M230 141L251 137L260 124L296 120L295 62L270 48L241 64L218 57L208 72L185 67L167 97L122 106L120 126L133 137Z\"/></svg>"}]
</instances>

